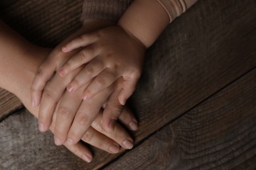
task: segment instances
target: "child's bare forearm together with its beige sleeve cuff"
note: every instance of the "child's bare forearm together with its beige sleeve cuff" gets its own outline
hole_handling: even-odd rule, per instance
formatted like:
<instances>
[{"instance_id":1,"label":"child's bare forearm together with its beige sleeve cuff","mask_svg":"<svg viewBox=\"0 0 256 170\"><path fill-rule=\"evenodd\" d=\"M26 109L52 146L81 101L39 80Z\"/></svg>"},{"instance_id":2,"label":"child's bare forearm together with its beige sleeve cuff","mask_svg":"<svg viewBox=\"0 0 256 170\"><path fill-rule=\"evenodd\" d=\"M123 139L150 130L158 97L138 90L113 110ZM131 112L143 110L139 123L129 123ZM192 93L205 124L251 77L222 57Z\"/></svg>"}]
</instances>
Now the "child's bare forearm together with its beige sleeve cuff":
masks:
<instances>
[{"instance_id":1,"label":"child's bare forearm together with its beige sleeve cuff","mask_svg":"<svg viewBox=\"0 0 256 170\"><path fill-rule=\"evenodd\" d=\"M135 0L121 16L118 25L137 37L148 48L156 41L170 21L181 15L196 1Z\"/></svg>"}]
</instances>

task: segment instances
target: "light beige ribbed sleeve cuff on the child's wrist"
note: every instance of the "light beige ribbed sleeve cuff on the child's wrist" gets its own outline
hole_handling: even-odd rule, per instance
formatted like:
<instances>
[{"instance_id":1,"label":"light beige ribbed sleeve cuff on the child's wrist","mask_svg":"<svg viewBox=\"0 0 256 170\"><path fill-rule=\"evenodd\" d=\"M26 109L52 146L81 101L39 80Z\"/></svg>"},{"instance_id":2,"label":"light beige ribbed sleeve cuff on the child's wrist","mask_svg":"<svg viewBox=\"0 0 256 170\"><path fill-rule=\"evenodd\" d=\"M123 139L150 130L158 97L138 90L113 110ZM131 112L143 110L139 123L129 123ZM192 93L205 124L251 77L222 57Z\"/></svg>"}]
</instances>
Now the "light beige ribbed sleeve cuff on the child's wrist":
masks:
<instances>
[{"instance_id":1,"label":"light beige ribbed sleeve cuff on the child's wrist","mask_svg":"<svg viewBox=\"0 0 256 170\"><path fill-rule=\"evenodd\" d=\"M198 0L158 0L167 11L172 22L177 16L180 16Z\"/></svg>"}]
</instances>

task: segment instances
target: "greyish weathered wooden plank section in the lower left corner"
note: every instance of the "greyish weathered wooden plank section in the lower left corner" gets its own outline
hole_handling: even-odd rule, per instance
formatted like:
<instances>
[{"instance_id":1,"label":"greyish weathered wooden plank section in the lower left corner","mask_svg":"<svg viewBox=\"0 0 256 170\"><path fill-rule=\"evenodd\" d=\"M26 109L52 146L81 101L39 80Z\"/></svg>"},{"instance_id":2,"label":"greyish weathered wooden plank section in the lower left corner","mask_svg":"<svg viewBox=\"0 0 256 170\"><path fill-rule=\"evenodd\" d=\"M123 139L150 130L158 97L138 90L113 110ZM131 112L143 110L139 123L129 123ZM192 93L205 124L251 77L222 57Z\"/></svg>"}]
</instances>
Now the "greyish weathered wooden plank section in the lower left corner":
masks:
<instances>
[{"instance_id":1,"label":"greyish weathered wooden plank section in the lower left corner","mask_svg":"<svg viewBox=\"0 0 256 170\"><path fill-rule=\"evenodd\" d=\"M39 133L37 120L26 110L0 123L0 169L81 169L83 160L55 146L53 135Z\"/></svg>"}]
</instances>

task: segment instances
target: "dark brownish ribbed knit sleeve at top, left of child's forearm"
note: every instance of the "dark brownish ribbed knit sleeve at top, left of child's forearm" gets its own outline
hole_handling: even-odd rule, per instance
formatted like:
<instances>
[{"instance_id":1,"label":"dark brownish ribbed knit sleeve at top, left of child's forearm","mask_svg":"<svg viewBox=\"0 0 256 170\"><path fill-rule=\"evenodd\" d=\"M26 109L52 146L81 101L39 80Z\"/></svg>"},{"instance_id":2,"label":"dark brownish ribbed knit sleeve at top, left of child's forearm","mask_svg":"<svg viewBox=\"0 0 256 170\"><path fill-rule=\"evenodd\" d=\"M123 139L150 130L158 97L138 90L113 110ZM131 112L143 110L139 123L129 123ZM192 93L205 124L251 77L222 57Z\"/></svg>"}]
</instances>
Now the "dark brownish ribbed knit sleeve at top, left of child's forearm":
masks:
<instances>
[{"instance_id":1,"label":"dark brownish ribbed knit sleeve at top, left of child's forearm","mask_svg":"<svg viewBox=\"0 0 256 170\"><path fill-rule=\"evenodd\" d=\"M133 0L85 0L81 20L97 19L117 22Z\"/></svg>"}]
</instances>

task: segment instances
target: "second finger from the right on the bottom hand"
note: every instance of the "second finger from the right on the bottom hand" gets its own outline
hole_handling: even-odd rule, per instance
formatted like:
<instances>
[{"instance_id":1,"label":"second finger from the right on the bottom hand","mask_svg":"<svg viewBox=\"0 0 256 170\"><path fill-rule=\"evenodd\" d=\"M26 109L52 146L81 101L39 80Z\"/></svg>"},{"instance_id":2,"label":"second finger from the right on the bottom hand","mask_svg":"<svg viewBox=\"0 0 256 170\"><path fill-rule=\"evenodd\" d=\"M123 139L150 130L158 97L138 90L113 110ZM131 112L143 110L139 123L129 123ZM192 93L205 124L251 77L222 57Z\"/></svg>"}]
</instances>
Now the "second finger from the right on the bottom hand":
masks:
<instances>
[{"instance_id":1,"label":"second finger from the right on the bottom hand","mask_svg":"<svg viewBox=\"0 0 256 170\"><path fill-rule=\"evenodd\" d=\"M125 112L123 114L126 114ZM106 135L107 137L110 137L110 139L116 141L120 146L122 146L125 149L131 149L133 148L133 139L131 136L121 127L119 124L115 124L114 126L114 131L108 132L105 131L104 128L102 127L102 114L98 114L96 117L95 121L91 126L96 129L98 132Z\"/></svg>"}]
</instances>

